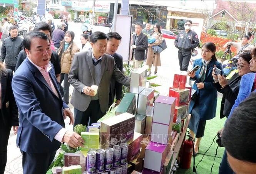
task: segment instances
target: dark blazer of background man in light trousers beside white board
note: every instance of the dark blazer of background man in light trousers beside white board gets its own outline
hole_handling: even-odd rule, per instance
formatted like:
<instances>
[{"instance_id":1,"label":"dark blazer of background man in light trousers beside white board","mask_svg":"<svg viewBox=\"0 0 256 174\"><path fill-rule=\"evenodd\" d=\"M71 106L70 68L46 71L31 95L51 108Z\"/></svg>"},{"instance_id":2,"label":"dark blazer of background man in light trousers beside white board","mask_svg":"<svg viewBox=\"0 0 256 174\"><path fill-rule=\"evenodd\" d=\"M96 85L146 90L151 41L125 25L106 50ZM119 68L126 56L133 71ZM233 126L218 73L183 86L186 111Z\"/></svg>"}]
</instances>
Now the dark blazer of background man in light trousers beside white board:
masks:
<instances>
[{"instance_id":1,"label":"dark blazer of background man in light trousers beside white board","mask_svg":"<svg viewBox=\"0 0 256 174\"><path fill-rule=\"evenodd\" d=\"M136 45L136 49L132 49L132 58L134 54L137 61L143 61L145 59L145 50L148 47L147 36L141 32L135 40L136 35L136 33L132 35L132 45Z\"/></svg>"}]
</instances>

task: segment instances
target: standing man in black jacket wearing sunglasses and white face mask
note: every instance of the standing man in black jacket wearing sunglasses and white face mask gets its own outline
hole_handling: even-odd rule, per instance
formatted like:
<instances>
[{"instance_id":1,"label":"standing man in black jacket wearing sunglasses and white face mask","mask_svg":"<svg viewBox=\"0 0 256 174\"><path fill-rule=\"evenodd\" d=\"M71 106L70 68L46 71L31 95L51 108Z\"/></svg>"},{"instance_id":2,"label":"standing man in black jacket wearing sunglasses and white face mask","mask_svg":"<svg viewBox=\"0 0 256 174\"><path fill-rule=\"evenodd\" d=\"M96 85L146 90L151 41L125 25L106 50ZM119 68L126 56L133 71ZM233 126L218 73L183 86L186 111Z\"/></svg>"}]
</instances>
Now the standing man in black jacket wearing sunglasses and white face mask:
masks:
<instances>
[{"instance_id":1,"label":"standing man in black jacket wearing sunglasses and white face mask","mask_svg":"<svg viewBox=\"0 0 256 174\"><path fill-rule=\"evenodd\" d=\"M199 46L199 39L196 32L190 30L192 26L191 20L185 21L185 30L179 32L177 38L174 41L174 45L179 49L179 70L187 71L189 66L189 61L191 58L191 49Z\"/></svg>"}]
</instances>

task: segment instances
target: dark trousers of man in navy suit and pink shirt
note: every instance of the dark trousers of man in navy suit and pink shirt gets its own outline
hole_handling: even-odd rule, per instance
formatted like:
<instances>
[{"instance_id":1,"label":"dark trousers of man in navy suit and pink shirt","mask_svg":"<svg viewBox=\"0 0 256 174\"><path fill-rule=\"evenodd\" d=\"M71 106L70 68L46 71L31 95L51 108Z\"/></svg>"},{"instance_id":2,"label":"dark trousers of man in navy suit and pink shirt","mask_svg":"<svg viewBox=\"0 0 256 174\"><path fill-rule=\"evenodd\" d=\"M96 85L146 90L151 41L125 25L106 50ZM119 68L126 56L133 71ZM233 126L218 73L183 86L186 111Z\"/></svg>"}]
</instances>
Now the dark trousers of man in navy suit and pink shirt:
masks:
<instances>
[{"instance_id":1,"label":"dark trousers of man in navy suit and pink shirt","mask_svg":"<svg viewBox=\"0 0 256 174\"><path fill-rule=\"evenodd\" d=\"M46 174L50 164L54 160L56 151L50 153L22 153L23 174Z\"/></svg>"}]
</instances>

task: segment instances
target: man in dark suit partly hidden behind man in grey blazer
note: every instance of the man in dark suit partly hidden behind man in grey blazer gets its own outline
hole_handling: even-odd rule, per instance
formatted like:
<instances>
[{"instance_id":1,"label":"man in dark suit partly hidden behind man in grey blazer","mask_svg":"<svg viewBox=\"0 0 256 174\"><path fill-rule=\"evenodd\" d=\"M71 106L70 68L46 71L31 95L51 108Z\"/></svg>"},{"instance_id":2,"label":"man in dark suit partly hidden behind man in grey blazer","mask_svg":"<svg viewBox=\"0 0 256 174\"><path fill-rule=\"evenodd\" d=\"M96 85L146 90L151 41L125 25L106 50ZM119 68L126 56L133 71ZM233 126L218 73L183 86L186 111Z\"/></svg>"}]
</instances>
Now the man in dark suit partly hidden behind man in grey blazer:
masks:
<instances>
[{"instance_id":1,"label":"man in dark suit partly hidden behind man in grey blazer","mask_svg":"<svg viewBox=\"0 0 256 174\"><path fill-rule=\"evenodd\" d=\"M109 41L107 42L106 54L114 57L117 68L123 72L123 57L120 54L115 53L119 47L122 37L117 32L107 33L107 36L109 36ZM109 107L113 104L114 100L115 103L119 105L121 98L122 84L115 82L115 79L112 77L110 81Z\"/></svg>"}]
</instances>

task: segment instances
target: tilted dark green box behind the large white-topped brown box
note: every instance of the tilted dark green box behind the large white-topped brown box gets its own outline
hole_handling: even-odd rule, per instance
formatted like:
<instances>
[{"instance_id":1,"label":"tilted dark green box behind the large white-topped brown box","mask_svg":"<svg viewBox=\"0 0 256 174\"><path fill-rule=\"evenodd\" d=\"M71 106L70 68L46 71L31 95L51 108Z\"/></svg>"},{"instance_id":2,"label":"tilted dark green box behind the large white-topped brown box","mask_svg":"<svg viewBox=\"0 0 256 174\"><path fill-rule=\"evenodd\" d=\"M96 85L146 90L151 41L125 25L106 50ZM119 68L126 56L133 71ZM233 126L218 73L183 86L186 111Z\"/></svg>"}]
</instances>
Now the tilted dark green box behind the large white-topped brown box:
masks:
<instances>
[{"instance_id":1,"label":"tilted dark green box behind the large white-topped brown box","mask_svg":"<svg viewBox=\"0 0 256 174\"><path fill-rule=\"evenodd\" d=\"M115 115L120 115L125 112L135 115L136 110L135 94L127 92L118 105L117 110L115 111Z\"/></svg>"}]
</instances>

